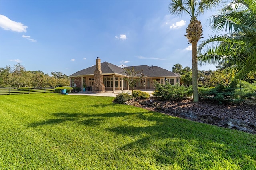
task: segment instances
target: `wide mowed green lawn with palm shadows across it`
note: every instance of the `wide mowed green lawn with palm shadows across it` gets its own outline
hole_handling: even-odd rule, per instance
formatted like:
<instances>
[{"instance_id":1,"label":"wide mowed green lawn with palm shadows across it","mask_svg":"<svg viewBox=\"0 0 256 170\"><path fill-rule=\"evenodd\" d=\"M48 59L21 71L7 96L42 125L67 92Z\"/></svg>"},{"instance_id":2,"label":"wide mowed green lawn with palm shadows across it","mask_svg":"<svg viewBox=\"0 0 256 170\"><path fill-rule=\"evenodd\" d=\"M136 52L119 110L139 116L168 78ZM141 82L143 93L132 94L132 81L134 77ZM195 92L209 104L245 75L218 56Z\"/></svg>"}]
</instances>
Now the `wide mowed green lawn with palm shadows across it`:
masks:
<instances>
[{"instance_id":1,"label":"wide mowed green lawn with palm shadows across it","mask_svg":"<svg viewBox=\"0 0 256 170\"><path fill-rule=\"evenodd\" d=\"M0 96L0 169L256 169L256 135L113 99Z\"/></svg>"}]
</instances>

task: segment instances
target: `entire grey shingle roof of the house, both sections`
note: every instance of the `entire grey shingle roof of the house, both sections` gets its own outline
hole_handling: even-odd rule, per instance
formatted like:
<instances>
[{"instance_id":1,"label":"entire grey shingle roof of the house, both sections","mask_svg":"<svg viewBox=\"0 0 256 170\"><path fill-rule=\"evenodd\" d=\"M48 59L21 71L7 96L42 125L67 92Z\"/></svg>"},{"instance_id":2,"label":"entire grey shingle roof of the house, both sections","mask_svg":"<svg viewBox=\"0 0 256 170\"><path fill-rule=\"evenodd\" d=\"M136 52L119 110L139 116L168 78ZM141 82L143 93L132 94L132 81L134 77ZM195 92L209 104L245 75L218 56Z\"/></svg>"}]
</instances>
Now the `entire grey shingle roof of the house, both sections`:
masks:
<instances>
[{"instance_id":1,"label":"entire grey shingle roof of the house, both sections","mask_svg":"<svg viewBox=\"0 0 256 170\"><path fill-rule=\"evenodd\" d=\"M161 67L158 67L158 66L139 65L139 66L124 67L124 68L132 69L132 67L134 67L135 71L142 70L142 73L146 77L180 77L179 74L173 73L172 71L168 71L166 69L162 69ZM82 76L82 75L94 75L95 69L96 69L96 66L94 65L87 69L80 70L70 75L69 77L76 77L76 76ZM124 73L124 69L108 62L101 63L101 70L102 70L102 74L116 73L116 74L126 75Z\"/></svg>"}]
</instances>

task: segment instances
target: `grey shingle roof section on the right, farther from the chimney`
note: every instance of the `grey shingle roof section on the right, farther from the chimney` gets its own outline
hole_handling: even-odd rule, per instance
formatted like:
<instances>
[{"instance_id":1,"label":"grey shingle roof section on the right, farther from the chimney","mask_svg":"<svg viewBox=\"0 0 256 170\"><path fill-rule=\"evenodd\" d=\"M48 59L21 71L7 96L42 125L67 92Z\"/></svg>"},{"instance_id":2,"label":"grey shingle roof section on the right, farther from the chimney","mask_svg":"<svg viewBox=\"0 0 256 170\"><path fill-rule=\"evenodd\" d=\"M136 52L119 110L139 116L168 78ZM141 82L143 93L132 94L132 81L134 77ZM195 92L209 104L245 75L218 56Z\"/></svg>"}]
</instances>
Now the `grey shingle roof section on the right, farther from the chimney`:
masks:
<instances>
[{"instance_id":1,"label":"grey shingle roof section on the right, farther from the chimney","mask_svg":"<svg viewBox=\"0 0 256 170\"><path fill-rule=\"evenodd\" d=\"M124 68L132 69L132 67L134 68L135 71L141 70L144 76L147 77L180 77L179 74L173 73L172 71L168 71L158 66L138 65Z\"/></svg>"}]
</instances>

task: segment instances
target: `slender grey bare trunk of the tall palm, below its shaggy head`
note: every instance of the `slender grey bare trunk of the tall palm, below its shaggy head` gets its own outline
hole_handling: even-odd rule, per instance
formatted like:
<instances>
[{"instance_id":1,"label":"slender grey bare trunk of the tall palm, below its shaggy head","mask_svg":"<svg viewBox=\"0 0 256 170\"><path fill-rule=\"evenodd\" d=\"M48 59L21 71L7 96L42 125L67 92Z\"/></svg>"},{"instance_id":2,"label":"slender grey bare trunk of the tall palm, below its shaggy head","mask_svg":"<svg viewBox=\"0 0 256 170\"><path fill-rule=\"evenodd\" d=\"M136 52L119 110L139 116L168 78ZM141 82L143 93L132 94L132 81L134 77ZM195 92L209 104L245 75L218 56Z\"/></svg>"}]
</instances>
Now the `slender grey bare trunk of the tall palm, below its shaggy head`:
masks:
<instances>
[{"instance_id":1,"label":"slender grey bare trunk of the tall palm, below its shaggy head","mask_svg":"<svg viewBox=\"0 0 256 170\"><path fill-rule=\"evenodd\" d=\"M198 102L198 69L197 69L197 41L192 42L192 87L193 87L193 101Z\"/></svg>"}]
</instances>

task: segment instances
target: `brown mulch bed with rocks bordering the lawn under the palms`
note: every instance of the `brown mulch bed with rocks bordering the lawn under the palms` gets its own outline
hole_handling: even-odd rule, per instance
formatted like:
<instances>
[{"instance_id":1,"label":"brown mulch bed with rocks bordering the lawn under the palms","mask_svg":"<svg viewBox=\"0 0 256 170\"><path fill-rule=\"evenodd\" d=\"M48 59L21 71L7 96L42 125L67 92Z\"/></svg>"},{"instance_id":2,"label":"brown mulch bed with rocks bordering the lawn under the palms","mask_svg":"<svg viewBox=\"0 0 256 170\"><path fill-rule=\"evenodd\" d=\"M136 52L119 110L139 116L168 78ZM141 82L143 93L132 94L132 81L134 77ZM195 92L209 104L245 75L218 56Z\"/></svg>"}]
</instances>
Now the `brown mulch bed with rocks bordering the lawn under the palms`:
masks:
<instances>
[{"instance_id":1,"label":"brown mulch bed with rocks bordering the lawn under the palms","mask_svg":"<svg viewBox=\"0 0 256 170\"><path fill-rule=\"evenodd\" d=\"M204 101L194 103L192 99L182 101L159 101L156 97L150 99L136 99L134 102L130 101L129 105L221 127L227 127L223 122L230 119L244 121L250 126L249 130L246 132L256 134L256 106L246 104L219 105ZM190 114L188 114L188 116L180 113Z\"/></svg>"}]
</instances>

